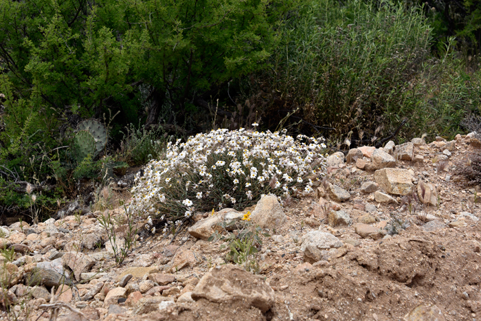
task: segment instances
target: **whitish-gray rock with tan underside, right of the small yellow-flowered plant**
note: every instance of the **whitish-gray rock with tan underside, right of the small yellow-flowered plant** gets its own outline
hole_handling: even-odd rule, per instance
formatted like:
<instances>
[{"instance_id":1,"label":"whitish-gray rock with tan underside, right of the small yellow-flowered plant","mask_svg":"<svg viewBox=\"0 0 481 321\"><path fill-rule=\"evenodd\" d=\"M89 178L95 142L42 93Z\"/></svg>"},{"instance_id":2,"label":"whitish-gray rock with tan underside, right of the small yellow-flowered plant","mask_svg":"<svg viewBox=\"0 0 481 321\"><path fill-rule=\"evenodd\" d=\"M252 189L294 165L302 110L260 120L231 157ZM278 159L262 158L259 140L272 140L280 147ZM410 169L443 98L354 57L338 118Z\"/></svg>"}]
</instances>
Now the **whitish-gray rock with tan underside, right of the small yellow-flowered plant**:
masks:
<instances>
[{"instance_id":1,"label":"whitish-gray rock with tan underside, right of the small yellow-flowered plant","mask_svg":"<svg viewBox=\"0 0 481 321\"><path fill-rule=\"evenodd\" d=\"M315 263L322 259L322 250L342 247L342 241L339 241L333 234L312 231L302 236L302 245L300 250L304 252L304 261Z\"/></svg>"}]
</instances>

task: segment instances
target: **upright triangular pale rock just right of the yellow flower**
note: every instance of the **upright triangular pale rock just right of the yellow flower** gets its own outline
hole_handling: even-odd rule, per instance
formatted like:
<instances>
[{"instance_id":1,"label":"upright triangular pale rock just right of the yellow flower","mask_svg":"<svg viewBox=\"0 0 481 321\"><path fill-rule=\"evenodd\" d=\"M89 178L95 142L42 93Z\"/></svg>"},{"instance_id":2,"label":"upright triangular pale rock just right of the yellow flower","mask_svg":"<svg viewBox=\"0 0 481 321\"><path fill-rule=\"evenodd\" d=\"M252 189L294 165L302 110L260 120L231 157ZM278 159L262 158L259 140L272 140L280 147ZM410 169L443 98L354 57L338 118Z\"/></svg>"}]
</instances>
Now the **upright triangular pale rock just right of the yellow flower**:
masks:
<instances>
[{"instance_id":1,"label":"upright triangular pale rock just right of the yellow flower","mask_svg":"<svg viewBox=\"0 0 481 321\"><path fill-rule=\"evenodd\" d=\"M260 228L280 228L287 217L276 195L263 195L257 202L256 209L252 211L251 221Z\"/></svg>"}]
</instances>

